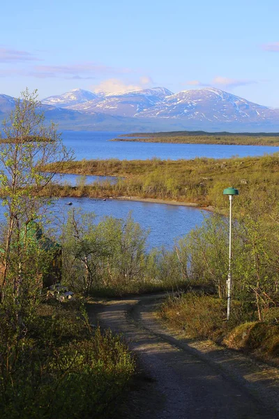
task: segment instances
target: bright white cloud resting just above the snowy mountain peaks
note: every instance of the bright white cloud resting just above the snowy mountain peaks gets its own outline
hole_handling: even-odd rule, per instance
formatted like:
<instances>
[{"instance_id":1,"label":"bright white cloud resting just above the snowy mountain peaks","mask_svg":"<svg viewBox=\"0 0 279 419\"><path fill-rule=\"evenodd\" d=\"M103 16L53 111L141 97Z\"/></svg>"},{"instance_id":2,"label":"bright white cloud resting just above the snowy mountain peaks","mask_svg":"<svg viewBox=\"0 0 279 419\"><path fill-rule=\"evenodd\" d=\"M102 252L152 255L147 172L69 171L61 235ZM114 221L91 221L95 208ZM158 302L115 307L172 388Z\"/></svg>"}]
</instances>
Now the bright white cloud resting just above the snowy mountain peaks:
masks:
<instances>
[{"instance_id":1,"label":"bright white cloud resting just above the snowy mountain peaks","mask_svg":"<svg viewBox=\"0 0 279 419\"><path fill-rule=\"evenodd\" d=\"M95 86L91 86L91 89L96 93L103 91L104 93L126 93L126 91L142 90L146 87L150 87L153 81L148 76L142 76L139 82L129 82L127 80L120 80L118 78L110 78L103 80Z\"/></svg>"}]
</instances>

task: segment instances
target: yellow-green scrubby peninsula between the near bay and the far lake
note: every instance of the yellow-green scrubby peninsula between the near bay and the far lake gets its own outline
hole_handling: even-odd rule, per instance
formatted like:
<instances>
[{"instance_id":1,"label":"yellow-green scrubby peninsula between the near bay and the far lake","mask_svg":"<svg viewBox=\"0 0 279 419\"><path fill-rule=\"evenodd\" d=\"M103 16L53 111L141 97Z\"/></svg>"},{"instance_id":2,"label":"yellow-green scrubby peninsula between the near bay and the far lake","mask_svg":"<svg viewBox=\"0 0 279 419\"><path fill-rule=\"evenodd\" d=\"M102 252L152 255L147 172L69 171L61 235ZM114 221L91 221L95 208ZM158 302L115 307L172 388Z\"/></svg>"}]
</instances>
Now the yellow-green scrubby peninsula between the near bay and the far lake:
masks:
<instances>
[{"instance_id":1,"label":"yellow-green scrubby peninsula between the near bay and the far lake","mask_svg":"<svg viewBox=\"0 0 279 419\"><path fill-rule=\"evenodd\" d=\"M46 168L50 171L56 169L55 163ZM50 185L48 193L96 198L134 196L216 207L225 203L222 192L227 186L238 188L241 196L257 188L263 198L269 193L278 197L279 154L178 161L156 158L146 161L83 160L67 163L63 172L117 176L119 179L85 186L84 178L80 177L76 187Z\"/></svg>"}]
</instances>

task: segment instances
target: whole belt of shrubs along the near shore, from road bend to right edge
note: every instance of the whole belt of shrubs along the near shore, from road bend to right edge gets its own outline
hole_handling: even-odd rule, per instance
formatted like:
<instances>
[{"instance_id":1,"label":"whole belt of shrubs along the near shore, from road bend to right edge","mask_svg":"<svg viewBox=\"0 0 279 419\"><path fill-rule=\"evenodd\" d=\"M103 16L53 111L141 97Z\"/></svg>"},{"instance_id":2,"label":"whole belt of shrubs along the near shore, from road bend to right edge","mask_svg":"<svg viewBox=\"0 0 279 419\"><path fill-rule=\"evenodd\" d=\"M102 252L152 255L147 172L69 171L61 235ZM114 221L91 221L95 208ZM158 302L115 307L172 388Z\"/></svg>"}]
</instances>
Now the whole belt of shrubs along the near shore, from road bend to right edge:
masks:
<instances>
[{"instance_id":1,"label":"whole belt of shrubs along the near shore, from road bend to right edge","mask_svg":"<svg viewBox=\"0 0 279 419\"><path fill-rule=\"evenodd\" d=\"M229 322L229 225L218 213L172 250L147 251L147 233L130 216L94 225L93 214L70 212L61 239L66 284L77 293L107 297L172 291L161 311L172 325L279 364L278 209L273 195L262 199L257 189L234 200Z\"/></svg>"}]
</instances>

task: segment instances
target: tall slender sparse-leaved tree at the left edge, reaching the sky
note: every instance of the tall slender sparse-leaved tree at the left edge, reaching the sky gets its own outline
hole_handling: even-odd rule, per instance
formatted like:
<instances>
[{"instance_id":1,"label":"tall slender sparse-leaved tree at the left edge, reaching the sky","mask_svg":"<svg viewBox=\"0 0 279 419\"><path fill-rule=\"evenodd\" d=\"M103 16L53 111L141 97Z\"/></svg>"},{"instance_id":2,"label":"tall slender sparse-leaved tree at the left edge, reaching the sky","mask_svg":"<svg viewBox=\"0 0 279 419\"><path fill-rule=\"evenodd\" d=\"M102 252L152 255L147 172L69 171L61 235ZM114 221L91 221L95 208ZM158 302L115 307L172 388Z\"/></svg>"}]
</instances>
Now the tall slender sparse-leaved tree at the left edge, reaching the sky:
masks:
<instances>
[{"instance_id":1,"label":"tall slender sparse-leaved tree at the left edge, reaching the sky","mask_svg":"<svg viewBox=\"0 0 279 419\"><path fill-rule=\"evenodd\" d=\"M22 272L28 271L23 269L28 259L27 232L31 222L40 221L50 203L44 189L55 173L45 172L45 165L59 161L56 169L59 172L73 156L63 146L56 126L45 123L37 91L22 92L15 110L3 122L0 135L0 189L2 205L6 207L0 253L0 302L3 302L6 290L14 300L20 294Z\"/></svg>"}]
</instances>

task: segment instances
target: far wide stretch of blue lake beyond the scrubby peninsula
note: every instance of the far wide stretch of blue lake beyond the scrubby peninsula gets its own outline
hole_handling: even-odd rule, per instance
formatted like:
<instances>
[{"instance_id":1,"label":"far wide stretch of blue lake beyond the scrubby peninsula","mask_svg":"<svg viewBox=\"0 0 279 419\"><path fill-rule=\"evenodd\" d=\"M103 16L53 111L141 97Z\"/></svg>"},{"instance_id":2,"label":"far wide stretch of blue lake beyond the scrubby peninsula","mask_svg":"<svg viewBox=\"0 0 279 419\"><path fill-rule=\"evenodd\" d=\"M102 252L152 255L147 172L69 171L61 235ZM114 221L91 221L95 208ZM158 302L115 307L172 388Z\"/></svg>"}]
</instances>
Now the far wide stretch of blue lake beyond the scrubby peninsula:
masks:
<instances>
[{"instance_id":1,"label":"far wide stretch of blue lake beyond the scrubby peninsula","mask_svg":"<svg viewBox=\"0 0 279 419\"><path fill-rule=\"evenodd\" d=\"M120 133L63 131L63 143L73 149L75 158L81 159L195 159L210 157L225 159L238 155L262 156L279 152L279 147L259 145L166 144L160 142L110 141Z\"/></svg>"}]
</instances>

